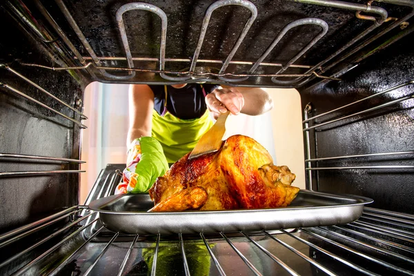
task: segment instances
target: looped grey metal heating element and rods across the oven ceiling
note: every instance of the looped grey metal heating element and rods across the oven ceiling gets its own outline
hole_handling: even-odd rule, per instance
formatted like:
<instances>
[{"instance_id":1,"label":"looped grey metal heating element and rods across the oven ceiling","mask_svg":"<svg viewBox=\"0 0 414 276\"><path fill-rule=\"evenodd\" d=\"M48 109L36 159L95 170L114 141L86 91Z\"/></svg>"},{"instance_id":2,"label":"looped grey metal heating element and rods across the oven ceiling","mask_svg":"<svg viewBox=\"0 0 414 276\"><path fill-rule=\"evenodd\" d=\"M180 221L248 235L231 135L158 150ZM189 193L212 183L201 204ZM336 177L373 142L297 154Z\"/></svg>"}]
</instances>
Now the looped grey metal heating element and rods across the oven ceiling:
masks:
<instances>
[{"instance_id":1,"label":"looped grey metal heating element and rods across the oven ceiling","mask_svg":"<svg viewBox=\"0 0 414 276\"><path fill-rule=\"evenodd\" d=\"M397 6L408 6L412 8L411 12L405 14L399 19L396 19L394 17L388 17L388 12L384 8L381 8L379 6L373 6L371 4L372 1L369 1L367 4L359 4L331 0L296 0L295 2L299 2L305 5L324 6L328 8L355 12L355 17L358 20L373 22L371 26L369 26L365 30L362 30L362 32L359 32L355 37L349 39L346 43L342 43L339 46L339 48L337 48L330 55L327 55L326 58L317 62L317 64L310 66L295 64L295 61L304 57L304 55L311 48L315 48L315 44L319 45L319 40L326 39L325 35L327 34L330 27L328 26L328 23L326 23L326 21L319 18L308 17L290 21L286 24L286 26L284 26L284 28L277 32L277 35L270 43L268 48L259 56L259 58L256 61L233 61L233 57L238 52L242 43L246 40L246 37L251 35L251 30L249 32L249 29L253 26L253 23L255 23L255 20L257 19L258 9L253 3L246 0L216 1L212 3L210 6L208 6L208 9L204 14L201 29L199 30L198 34L199 37L197 41L197 46L195 48L192 59L167 58L166 47L169 45L167 41L167 28L168 23L173 19L169 19L166 12L164 12L161 8L155 5L149 3L126 3L123 6L117 8L114 18L114 20L116 20L117 22L117 34L121 37L121 43L124 49L125 57L98 57L97 53L93 50L93 47L91 46L90 42L88 42L88 39L86 39L85 34L83 34L81 27L79 27L77 21L70 13L70 10L66 6L66 4L63 3L62 0L55 1L57 3L57 6L59 7L59 10L66 18L67 23L70 25L70 28L72 28L72 30L75 32L77 39L79 39L81 43L81 46L83 46L84 50L88 52L89 57L84 57L81 55L83 49L79 50L77 47L75 47L76 43L74 43L74 41L70 41L68 35L57 24L55 19L52 18L52 15L48 12L48 10L46 10L46 8L40 3L40 1L35 1L36 6L43 15L43 17L46 19L46 21L48 21L50 27L53 30L55 30L56 36L59 36L59 38L61 39L61 45L64 45L66 48L70 50L70 52L72 52L73 56L70 57L72 64L59 67L51 67L36 63L22 64L26 66L38 66L41 68L47 68L51 70L86 70L88 75L90 75L90 77L93 80L110 83L191 83L199 81L213 81L216 83L233 83L233 85L244 86L253 85L262 87L299 87L303 86L305 83L308 83L309 81L315 78L339 80L337 78L340 75L343 75L348 70L354 68L355 63L351 62L351 66L349 66L350 63L348 63L346 66L342 66L342 68L335 67L337 66L337 64L353 56L356 52L358 52L362 48L365 48L366 46L368 46L368 44L372 43L376 39L382 37L384 34L397 28L398 26L400 26L401 28L402 26L406 26L406 21L410 19L414 14L414 3L410 1L382 1ZM23 23L26 23L26 25L29 29L32 30L32 32L38 34L38 37L43 37L43 39L41 39L43 43L45 37L54 37L52 34L49 34L45 28L40 28L40 26L36 26L35 24L27 23L28 20L26 20L26 17L32 17L32 14L22 14L16 12L16 10L18 9L14 6L14 3L11 2L8 2L7 6L8 8L10 8L11 12L14 12L15 16L21 19ZM224 6L231 6L233 8L235 8L236 6L242 7L243 9L246 9L250 12L250 17L248 17L248 20L246 21L244 28L241 30L241 32L239 32L239 36L235 41L233 48L231 48L230 52L228 53L224 61L219 59L199 59L201 48L204 45L206 37L208 37L206 33L209 27L210 19L212 18L212 14L215 10L218 10ZM132 10L144 10L147 12L152 12L156 14L157 17L159 17L159 19L161 19L159 58L132 56L132 48L130 41L128 41L128 35L126 32L128 28L126 28L126 24L124 21L125 14ZM364 14L362 14L361 12L364 12ZM201 19L199 20L201 21ZM383 24L385 27L379 28L383 27ZM278 44L282 41L282 39L288 32L292 32L292 30L294 30L295 28L304 25L315 26L313 28L315 28L315 30L320 31L317 32L315 36L310 41L308 41L308 43L303 43L304 46L301 49L299 49L298 52L295 52L294 55L290 59L288 59L288 61L284 63L264 62L264 59L268 57L268 55L270 54L270 52L273 51L274 48L277 48ZM379 31L370 37L373 31L377 28ZM409 32L404 33L404 35L398 35L393 39L388 39L386 45L383 45L382 48L391 45L391 43L395 42L397 39L401 39L408 33ZM114 39L119 39L119 37L114 37ZM324 43L327 43L327 41L324 41ZM372 55L373 52L371 52L371 54L369 55ZM368 57L368 55L364 56L364 58L366 57ZM356 60L360 61L360 59L355 59L355 61ZM119 63L123 64L125 63L125 61L127 63L126 67L119 66ZM172 63L184 63L185 66L188 66L188 70L166 70L167 61ZM137 68L137 64L135 64L135 62L139 62L141 64L141 68ZM151 66L146 66L145 64L148 65L148 62L158 63L158 68L150 68ZM203 63L204 66L213 67L218 65L221 66L221 68L217 69L217 72L215 72L215 70L204 70L203 68L206 67L197 67L197 63ZM108 66L108 64L111 65ZM144 68L142 66L143 64ZM243 72L237 72L237 70L234 71L234 69L228 70L228 66L230 65L236 66L235 68L237 68L237 66L246 67L250 65L251 67L250 69L243 69ZM257 70L258 68L260 70ZM267 69L264 70L264 68ZM269 68L277 69L275 71L272 69L269 72ZM299 70L305 69L305 72L285 72L290 68L296 68ZM330 71L332 68L335 69L335 72ZM121 72L121 75L114 74L113 72ZM143 74L137 75L137 72ZM329 72L329 75L324 75L326 72Z\"/></svg>"}]
</instances>

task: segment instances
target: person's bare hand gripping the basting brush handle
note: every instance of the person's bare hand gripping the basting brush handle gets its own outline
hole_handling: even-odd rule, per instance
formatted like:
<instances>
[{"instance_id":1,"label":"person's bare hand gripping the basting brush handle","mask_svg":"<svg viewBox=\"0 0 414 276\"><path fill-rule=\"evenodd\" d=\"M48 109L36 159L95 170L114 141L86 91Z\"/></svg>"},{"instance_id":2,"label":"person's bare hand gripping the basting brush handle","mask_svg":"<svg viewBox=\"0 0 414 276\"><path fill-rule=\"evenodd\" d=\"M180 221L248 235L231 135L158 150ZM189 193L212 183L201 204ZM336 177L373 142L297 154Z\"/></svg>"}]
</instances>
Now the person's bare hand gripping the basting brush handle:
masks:
<instances>
[{"instance_id":1,"label":"person's bare hand gripping the basting brush handle","mask_svg":"<svg viewBox=\"0 0 414 276\"><path fill-rule=\"evenodd\" d=\"M220 113L225 113L227 110L230 110L233 115L237 115L244 106L244 97L237 88L215 89L206 96L206 105L215 119L219 117Z\"/></svg>"}]
</instances>

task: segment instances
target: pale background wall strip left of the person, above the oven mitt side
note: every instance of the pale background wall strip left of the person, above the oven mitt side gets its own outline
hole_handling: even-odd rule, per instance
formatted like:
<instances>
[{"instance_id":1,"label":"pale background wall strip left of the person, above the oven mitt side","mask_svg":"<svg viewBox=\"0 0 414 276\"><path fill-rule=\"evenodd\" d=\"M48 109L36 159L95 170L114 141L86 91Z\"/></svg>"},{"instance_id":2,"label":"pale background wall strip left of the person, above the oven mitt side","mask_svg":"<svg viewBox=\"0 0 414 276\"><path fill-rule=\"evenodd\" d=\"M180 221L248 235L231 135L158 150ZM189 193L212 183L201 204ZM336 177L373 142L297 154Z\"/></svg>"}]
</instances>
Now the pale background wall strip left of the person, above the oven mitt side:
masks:
<instances>
[{"instance_id":1,"label":"pale background wall strip left of the person, above the oven mitt side","mask_svg":"<svg viewBox=\"0 0 414 276\"><path fill-rule=\"evenodd\" d=\"M90 83L83 99L85 121L81 159L81 203L106 164L126 163L128 132L128 84Z\"/></svg>"}]
</instances>

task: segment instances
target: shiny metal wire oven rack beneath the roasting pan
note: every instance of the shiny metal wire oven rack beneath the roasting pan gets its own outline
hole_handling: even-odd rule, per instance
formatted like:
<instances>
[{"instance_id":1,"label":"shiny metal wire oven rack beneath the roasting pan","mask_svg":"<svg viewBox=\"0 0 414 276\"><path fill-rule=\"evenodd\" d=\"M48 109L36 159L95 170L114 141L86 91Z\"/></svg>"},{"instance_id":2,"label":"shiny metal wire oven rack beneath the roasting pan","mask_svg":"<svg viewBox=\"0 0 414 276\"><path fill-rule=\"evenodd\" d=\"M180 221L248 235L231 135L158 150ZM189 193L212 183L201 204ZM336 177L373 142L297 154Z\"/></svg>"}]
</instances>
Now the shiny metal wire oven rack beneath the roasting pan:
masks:
<instances>
[{"instance_id":1,"label":"shiny metal wire oven rack beneath the roasting pan","mask_svg":"<svg viewBox=\"0 0 414 276\"><path fill-rule=\"evenodd\" d=\"M83 210L87 214L79 216ZM2 274L36 274L38 264L52 262L55 265L43 270L42 275L59 275L70 269L78 275L100 275L103 271L105 275L147 271L151 275L166 275L164 269L173 260L178 264L169 266L169 275L199 275L202 271L209 275L249 275L248 270L254 275L308 275L317 271L328 275L414 275L414 217L404 213L366 208L359 220L344 226L271 233L263 230L127 237L121 233L109 235L101 226L88 239L79 239L83 230L97 223L95 218L79 225L92 215L86 206L73 206L1 235L0 248L4 250L23 237L69 219L54 233L33 240L16 255L2 255L0 270L7 271ZM94 242L103 230L108 234L108 242ZM57 236L61 237L59 242L49 244L33 259L14 262ZM86 259L88 256L90 259Z\"/></svg>"}]
</instances>

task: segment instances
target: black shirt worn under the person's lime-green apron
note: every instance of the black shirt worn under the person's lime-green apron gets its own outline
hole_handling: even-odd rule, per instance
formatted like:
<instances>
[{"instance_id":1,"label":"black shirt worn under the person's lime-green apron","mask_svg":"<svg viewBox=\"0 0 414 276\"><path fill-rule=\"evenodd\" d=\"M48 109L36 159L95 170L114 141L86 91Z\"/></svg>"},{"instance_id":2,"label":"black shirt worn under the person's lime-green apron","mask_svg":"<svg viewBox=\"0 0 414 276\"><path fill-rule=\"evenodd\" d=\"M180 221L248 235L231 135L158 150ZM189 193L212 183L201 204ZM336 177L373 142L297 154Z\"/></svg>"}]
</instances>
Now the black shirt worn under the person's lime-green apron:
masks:
<instances>
[{"instance_id":1,"label":"black shirt worn under the person's lime-green apron","mask_svg":"<svg viewBox=\"0 0 414 276\"><path fill-rule=\"evenodd\" d=\"M206 83L202 87L208 95L219 88L219 85ZM162 115L166 101L164 86L151 85L150 88L154 92L154 109ZM207 106L201 85L188 83L183 88L167 86L167 110L179 119L197 119L203 116Z\"/></svg>"}]
</instances>

